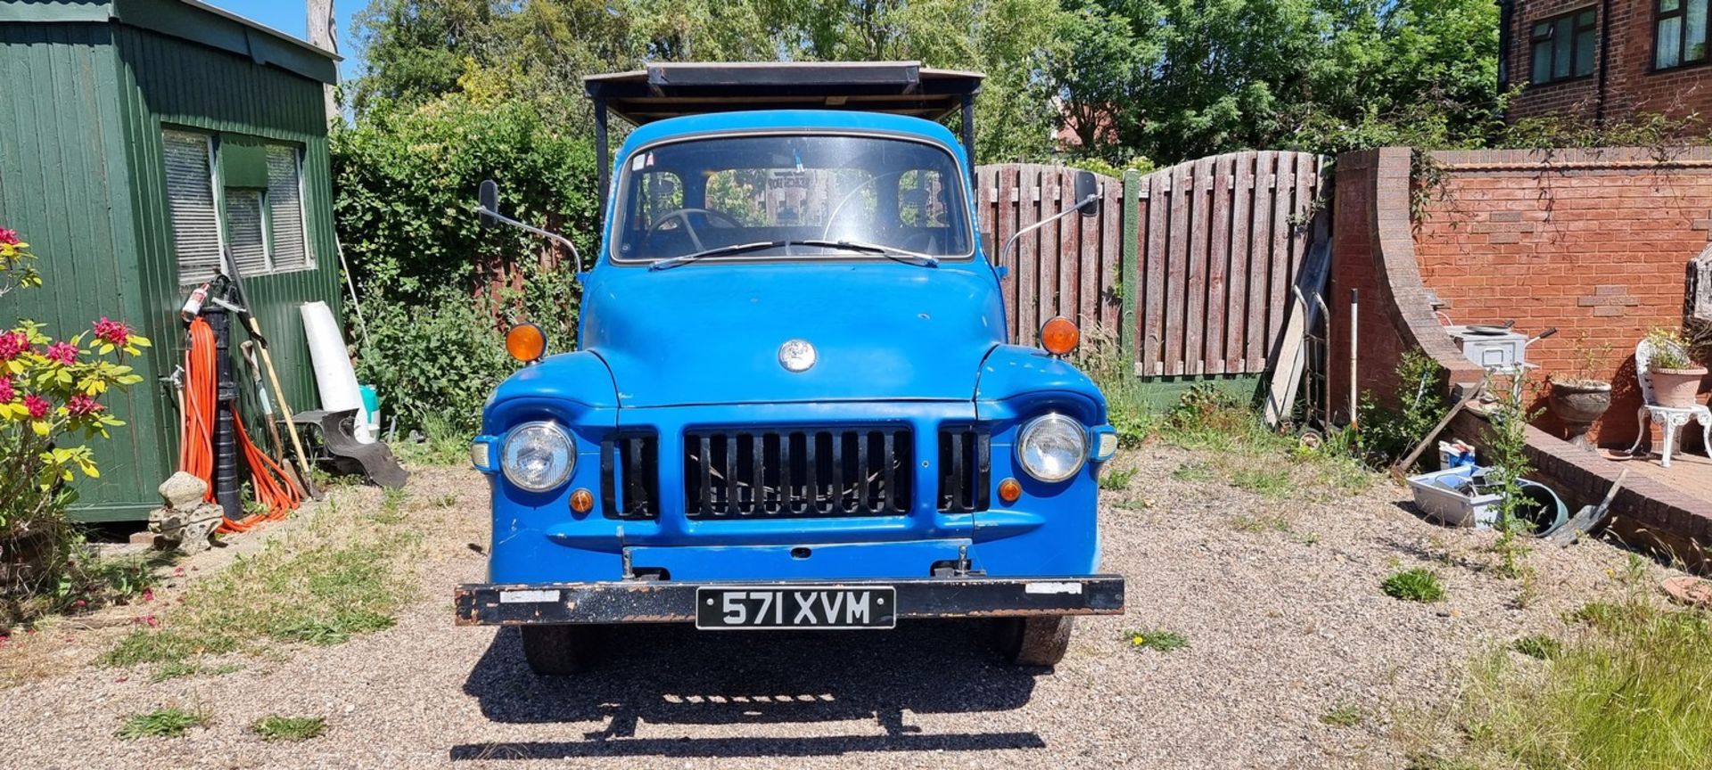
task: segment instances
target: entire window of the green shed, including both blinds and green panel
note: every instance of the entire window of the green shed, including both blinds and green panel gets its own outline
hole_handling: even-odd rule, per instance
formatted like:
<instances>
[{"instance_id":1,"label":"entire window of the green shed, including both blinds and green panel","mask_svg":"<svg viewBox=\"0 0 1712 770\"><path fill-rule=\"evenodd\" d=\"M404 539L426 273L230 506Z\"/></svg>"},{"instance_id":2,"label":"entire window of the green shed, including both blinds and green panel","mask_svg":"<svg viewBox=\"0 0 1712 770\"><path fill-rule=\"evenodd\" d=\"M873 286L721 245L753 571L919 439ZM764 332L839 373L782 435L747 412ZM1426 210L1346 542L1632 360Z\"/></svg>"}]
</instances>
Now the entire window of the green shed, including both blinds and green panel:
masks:
<instances>
[{"instance_id":1,"label":"entire window of the green shed, including both blinds and green panel","mask_svg":"<svg viewBox=\"0 0 1712 770\"><path fill-rule=\"evenodd\" d=\"M315 267L298 147L185 130L161 139L180 284L217 275L224 250L247 277Z\"/></svg>"}]
</instances>

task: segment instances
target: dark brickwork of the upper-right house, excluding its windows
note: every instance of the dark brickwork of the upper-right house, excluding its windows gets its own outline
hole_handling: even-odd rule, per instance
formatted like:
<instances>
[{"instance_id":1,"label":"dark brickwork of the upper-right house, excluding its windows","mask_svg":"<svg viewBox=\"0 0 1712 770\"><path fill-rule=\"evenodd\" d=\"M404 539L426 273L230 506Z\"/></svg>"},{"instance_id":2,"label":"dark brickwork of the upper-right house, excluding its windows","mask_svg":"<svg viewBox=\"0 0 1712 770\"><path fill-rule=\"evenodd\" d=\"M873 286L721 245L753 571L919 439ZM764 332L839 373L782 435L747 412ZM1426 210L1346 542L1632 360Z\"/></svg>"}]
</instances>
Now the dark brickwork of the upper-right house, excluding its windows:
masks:
<instances>
[{"instance_id":1,"label":"dark brickwork of the upper-right house, excluding its windows","mask_svg":"<svg viewBox=\"0 0 1712 770\"><path fill-rule=\"evenodd\" d=\"M1510 103L1508 116L1525 118L1546 113L1590 116L1599 98L1599 74L1604 72L1608 118L1637 111L1683 116L1712 115L1712 63L1674 70L1652 70L1652 27L1657 0L1515 0L1510 15L1507 63L1510 84L1524 86ZM1602 41L1594 53L1594 75L1554 84L1527 86L1532 70L1529 33L1534 22L1580 9L1597 14Z\"/></svg>"}]
</instances>

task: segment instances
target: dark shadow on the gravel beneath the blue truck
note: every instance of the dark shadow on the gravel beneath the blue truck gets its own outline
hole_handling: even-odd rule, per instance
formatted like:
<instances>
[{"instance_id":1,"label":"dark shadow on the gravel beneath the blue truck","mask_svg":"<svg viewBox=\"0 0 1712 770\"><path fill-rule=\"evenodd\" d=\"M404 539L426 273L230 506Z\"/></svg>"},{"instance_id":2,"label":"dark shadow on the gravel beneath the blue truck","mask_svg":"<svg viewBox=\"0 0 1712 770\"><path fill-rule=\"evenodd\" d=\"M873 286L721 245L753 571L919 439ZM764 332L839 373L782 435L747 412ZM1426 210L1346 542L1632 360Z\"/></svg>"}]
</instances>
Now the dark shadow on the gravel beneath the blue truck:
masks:
<instances>
[{"instance_id":1,"label":"dark shadow on the gravel beneath the blue truck","mask_svg":"<svg viewBox=\"0 0 1712 770\"><path fill-rule=\"evenodd\" d=\"M847 751L1044 748L1037 732L924 734L912 714L1020 708L1048 669L1005 666L978 621L914 621L894 631L743 633L625 626L584 674L538 678L515 628L502 628L464 691L493 722L587 726L582 741L473 743L452 760L572 756L817 756ZM873 720L883 734L741 736L741 726ZM719 737L635 737L637 726L705 726ZM736 736L733 736L736 732ZM806 732L806 731L805 731Z\"/></svg>"}]
</instances>

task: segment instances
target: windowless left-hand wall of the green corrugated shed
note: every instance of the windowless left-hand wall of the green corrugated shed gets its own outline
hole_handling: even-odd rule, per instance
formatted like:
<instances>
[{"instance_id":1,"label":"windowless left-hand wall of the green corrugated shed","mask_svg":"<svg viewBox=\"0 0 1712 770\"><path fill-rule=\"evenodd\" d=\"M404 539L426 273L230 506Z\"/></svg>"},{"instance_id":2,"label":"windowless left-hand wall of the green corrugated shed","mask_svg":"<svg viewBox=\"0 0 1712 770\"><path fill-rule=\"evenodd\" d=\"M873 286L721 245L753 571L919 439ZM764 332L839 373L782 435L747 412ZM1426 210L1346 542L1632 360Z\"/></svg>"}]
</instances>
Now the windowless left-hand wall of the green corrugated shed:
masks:
<instances>
[{"instance_id":1,"label":"windowless left-hand wall of the green corrugated shed","mask_svg":"<svg viewBox=\"0 0 1712 770\"><path fill-rule=\"evenodd\" d=\"M140 322L118 79L108 24L0 24L0 226L41 258L45 286L0 299L0 322L26 317L56 335L108 315ZM140 373L151 371L144 361ZM161 414L152 383L111 395L130 423L96 443L103 476L77 486L91 518L144 500L159 483Z\"/></svg>"}]
</instances>

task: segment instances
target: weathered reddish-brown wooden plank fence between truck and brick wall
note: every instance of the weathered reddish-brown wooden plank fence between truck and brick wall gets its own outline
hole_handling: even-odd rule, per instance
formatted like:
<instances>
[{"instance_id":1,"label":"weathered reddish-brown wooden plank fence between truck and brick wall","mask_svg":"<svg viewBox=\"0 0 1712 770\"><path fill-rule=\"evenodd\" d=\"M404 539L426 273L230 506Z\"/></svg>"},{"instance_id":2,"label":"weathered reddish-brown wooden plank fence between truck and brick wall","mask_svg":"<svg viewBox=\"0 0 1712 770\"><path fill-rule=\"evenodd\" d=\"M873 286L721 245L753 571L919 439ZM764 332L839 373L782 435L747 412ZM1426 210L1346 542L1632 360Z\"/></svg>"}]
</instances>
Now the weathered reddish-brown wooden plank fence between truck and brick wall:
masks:
<instances>
[{"instance_id":1,"label":"weathered reddish-brown wooden plank fence between truck and brick wall","mask_svg":"<svg viewBox=\"0 0 1712 770\"><path fill-rule=\"evenodd\" d=\"M1072 175L978 168L990 248L1072 205ZM1099 181L1097 216L1048 224L1005 258L1012 339L1065 315L1118 337L1144 376L1265 371L1308 253L1320 157L1231 152Z\"/></svg>"}]
</instances>

